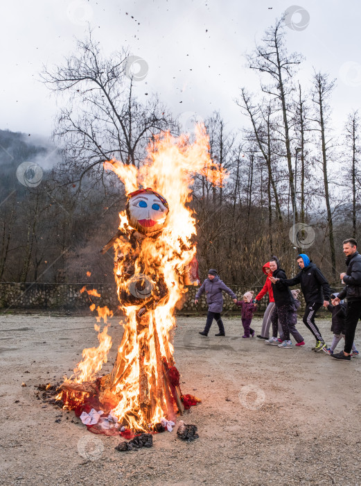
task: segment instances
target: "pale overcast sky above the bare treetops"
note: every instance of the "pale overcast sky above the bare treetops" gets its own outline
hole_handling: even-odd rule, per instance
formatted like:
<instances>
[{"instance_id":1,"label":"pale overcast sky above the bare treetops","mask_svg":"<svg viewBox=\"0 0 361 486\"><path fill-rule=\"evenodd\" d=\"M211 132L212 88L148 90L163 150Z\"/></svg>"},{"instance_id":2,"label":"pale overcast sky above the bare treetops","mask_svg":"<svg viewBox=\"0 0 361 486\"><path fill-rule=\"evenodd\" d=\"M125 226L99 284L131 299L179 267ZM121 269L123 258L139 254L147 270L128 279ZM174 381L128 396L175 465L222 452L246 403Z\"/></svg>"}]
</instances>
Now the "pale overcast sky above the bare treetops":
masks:
<instances>
[{"instance_id":1,"label":"pale overcast sky above the bare treetops","mask_svg":"<svg viewBox=\"0 0 361 486\"><path fill-rule=\"evenodd\" d=\"M258 90L244 55L285 10L299 11L286 30L290 51L306 57L301 80L306 83L313 67L337 78L332 105L341 127L361 105L356 0L18 0L1 7L0 129L49 137L61 100L49 95L39 72L75 50L87 22L105 53L129 46L146 61L140 97L158 92L185 119L220 110L229 128L240 128L239 88Z\"/></svg>"}]
</instances>

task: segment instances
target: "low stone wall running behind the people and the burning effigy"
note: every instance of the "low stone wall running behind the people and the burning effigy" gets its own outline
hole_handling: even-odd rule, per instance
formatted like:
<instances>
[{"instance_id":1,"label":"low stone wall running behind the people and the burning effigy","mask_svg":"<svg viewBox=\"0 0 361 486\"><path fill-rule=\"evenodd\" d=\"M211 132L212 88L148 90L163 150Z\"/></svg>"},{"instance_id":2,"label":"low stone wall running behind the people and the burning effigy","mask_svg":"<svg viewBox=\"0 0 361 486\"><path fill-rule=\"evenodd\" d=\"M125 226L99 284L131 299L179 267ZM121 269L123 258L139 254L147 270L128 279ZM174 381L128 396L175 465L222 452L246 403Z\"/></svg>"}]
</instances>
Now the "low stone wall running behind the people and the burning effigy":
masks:
<instances>
[{"instance_id":1,"label":"low stone wall running behind the people and the burning effigy","mask_svg":"<svg viewBox=\"0 0 361 486\"><path fill-rule=\"evenodd\" d=\"M96 289L101 297L88 296L87 292L80 293L84 285L87 290ZM231 289L238 296L249 290L244 285L230 285ZM254 287L252 290L259 292L262 287ZM182 312L206 311L206 298L202 295L197 305L194 303L195 293L199 287L186 287L186 294L182 301L177 305L178 310ZM255 293L256 295L256 293ZM237 310L233 300L228 294L223 294L224 311ZM10 309L67 309L80 310L89 307L91 302L96 305L107 305L109 309L116 310L118 299L116 287L114 285L103 284L83 284L83 283L0 283L0 308L2 310ZM263 311L267 306L267 297L263 298L258 305L258 310ZM303 297L301 296L301 308L304 308ZM239 311L238 311L239 312Z\"/></svg>"}]
</instances>

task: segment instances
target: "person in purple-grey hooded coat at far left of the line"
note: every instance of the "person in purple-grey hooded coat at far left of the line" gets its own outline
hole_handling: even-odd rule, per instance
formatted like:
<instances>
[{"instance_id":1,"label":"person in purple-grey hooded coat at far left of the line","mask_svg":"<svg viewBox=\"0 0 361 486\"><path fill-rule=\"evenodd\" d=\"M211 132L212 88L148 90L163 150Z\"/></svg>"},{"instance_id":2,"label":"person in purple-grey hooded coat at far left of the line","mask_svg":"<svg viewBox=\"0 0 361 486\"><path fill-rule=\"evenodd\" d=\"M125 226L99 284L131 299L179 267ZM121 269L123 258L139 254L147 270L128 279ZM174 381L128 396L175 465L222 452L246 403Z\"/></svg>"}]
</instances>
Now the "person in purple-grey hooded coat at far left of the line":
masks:
<instances>
[{"instance_id":1,"label":"person in purple-grey hooded coat at far left of the line","mask_svg":"<svg viewBox=\"0 0 361 486\"><path fill-rule=\"evenodd\" d=\"M215 334L215 336L225 336L226 334L224 333L224 325L220 317L220 313L223 309L222 292L227 292L227 294L229 294L234 300L234 303L237 302L237 296L236 294L234 294L234 292L231 291L231 289L227 287L227 285L225 285L224 282L222 282L222 280L220 280L219 276L217 275L217 270L213 268L209 270L208 278L204 280L202 286L200 287L200 290L198 290L197 294L195 294L195 304L198 303L198 301L200 300L200 296L204 292L206 292L208 314L206 317L206 326L204 330L200 332L200 334L202 334L202 336L208 336L213 319L215 319L219 329L219 333Z\"/></svg>"}]
</instances>

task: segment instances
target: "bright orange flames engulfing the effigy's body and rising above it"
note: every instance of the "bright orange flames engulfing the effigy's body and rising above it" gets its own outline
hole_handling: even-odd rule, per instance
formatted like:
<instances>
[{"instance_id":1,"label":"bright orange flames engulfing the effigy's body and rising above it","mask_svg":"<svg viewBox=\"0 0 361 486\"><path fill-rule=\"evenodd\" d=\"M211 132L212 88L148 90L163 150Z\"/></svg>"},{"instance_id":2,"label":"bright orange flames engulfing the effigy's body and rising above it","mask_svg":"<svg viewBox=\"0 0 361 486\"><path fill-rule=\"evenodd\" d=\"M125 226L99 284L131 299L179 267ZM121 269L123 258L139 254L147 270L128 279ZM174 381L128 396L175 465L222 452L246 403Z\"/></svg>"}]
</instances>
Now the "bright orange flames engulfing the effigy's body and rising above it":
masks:
<instances>
[{"instance_id":1,"label":"bright orange flames engulfing the effigy's body and rising above it","mask_svg":"<svg viewBox=\"0 0 361 486\"><path fill-rule=\"evenodd\" d=\"M105 162L105 168L117 174L127 193L140 186L150 187L164 196L169 206L161 232L155 237L141 236L135 246L131 240L134 232L125 211L121 212L118 229L122 235L114 242L114 276L126 319L114 369L101 378L102 393L108 402L115 403L114 414L119 422L134 430L147 430L149 424L163 417L174 419L182 405L177 385L170 379L175 364L170 330L175 327L175 306L186 292L184 275L196 251L196 221L188 207L195 176L223 185L227 173L211 160L203 125L196 126L192 143L186 135L156 135L139 169L116 160ZM85 291L99 296L96 290L83 287L81 292ZM127 294L136 299L127 301L123 297ZM91 310L94 308L92 304ZM106 324L109 310L97 311L98 321L103 318ZM99 326L94 327L99 346L83 351L82 362L72 378L77 383L96 378L112 346L107 326L101 333Z\"/></svg>"}]
</instances>

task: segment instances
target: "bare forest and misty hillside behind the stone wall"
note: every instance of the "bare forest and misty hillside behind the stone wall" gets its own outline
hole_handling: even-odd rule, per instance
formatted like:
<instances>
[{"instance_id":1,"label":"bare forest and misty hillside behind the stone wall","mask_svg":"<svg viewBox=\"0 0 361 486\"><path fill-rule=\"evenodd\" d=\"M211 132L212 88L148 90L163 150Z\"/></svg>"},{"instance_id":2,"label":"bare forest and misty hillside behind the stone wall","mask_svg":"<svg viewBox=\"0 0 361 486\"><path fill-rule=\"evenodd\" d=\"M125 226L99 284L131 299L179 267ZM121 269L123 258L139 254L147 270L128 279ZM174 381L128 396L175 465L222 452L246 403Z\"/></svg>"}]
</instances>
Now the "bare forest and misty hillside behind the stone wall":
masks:
<instances>
[{"instance_id":1,"label":"bare forest and misty hillside behind the stone wall","mask_svg":"<svg viewBox=\"0 0 361 486\"><path fill-rule=\"evenodd\" d=\"M44 83L66 100L52 149L0 131L0 281L113 282L112 252L99 251L116 233L126 195L103 162L115 157L139 167L154 135L184 131L161 94L146 103L136 97L129 55L103 56L90 34L63 65L44 70ZM360 114L349 113L335 133L335 81L315 69L303 86L303 62L288 51L277 20L247 58L259 85L235 94L248 123L229 130L221 112L204 120L211 157L229 178L220 187L195 181L201 278L213 267L228 284L261 285L271 255L291 275L302 252L340 286L342 240L360 235ZM19 176L24 162L33 165Z\"/></svg>"}]
</instances>

